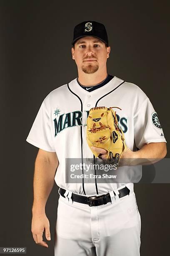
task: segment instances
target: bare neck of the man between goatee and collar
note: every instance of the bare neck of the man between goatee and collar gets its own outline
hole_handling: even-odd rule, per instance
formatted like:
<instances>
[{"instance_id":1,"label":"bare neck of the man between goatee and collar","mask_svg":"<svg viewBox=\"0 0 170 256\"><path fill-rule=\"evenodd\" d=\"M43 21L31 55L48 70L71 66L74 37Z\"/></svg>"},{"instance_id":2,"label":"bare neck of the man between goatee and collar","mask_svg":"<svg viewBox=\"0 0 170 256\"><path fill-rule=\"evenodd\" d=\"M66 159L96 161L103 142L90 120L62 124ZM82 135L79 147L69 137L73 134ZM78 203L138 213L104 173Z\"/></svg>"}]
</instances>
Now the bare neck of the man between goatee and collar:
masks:
<instances>
[{"instance_id":1,"label":"bare neck of the man between goatee and collar","mask_svg":"<svg viewBox=\"0 0 170 256\"><path fill-rule=\"evenodd\" d=\"M92 86L100 84L107 77L107 69L101 72L99 69L93 74L85 74L82 70L78 71L78 80L80 84Z\"/></svg>"}]
</instances>

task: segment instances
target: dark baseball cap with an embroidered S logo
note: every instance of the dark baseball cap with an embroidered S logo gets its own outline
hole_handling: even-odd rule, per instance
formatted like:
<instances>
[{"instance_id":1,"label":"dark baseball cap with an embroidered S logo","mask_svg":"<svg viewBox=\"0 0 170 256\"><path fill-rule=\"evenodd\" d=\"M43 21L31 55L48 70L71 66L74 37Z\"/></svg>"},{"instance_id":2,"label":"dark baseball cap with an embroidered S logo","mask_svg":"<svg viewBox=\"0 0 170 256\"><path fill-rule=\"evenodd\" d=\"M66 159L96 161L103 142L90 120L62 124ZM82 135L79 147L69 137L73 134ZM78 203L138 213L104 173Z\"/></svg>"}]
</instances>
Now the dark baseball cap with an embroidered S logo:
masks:
<instances>
[{"instance_id":1,"label":"dark baseball cap with an embroidered S logo","mask_svg":"<svg viewBox=\"0 0 170 256\"><path fill-rule=\"evenodd\" d=\"M84 36L94 36L102 40L107 47L109 46L107 31L102 23L96 21L83 21L74 28L72 45Z\"/></svg>"}]
</instances>

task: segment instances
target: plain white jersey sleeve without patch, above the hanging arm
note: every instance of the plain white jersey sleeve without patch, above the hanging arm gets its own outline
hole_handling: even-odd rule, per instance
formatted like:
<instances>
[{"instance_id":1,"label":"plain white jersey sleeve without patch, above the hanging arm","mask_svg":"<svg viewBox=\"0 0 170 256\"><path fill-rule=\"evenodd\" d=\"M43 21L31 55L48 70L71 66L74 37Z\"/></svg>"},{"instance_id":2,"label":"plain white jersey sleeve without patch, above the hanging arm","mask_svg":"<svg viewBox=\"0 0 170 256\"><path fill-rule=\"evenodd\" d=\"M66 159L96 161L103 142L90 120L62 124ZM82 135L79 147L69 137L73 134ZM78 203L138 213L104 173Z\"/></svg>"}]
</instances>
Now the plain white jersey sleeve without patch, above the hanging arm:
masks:
<instances>
[{"instance_id":1,"label":"plain white jersey sleeve without patch, above the hanging arm","mask_svg":"<svg viewBox=\"0 0 170 256\"><path fill-rule=\"evenodd\" d=\"M38 110L26 141L37 148L41 148L49 152L55 152L50 128L50 118L45 108L44 101Z\"/></svg>"}]
</instances>

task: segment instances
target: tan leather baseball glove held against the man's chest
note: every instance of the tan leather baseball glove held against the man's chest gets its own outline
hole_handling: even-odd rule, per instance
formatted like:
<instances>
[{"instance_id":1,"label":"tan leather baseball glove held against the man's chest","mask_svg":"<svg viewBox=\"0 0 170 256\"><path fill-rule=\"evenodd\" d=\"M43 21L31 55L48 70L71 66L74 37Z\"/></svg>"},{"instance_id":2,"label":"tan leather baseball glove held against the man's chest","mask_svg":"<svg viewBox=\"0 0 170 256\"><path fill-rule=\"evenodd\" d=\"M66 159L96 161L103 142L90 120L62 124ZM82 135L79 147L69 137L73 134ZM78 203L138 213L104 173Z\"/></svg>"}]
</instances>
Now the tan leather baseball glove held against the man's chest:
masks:
<instances>
[{"instance_id":1,"label":"tan leather baseball glove held against the man's chest","mask_svg":"<svg viewBox=\"0 0 170 256\"><path fill-rule=\"evenodd\" d=\"M118 167L127 146L122 128L119 128L117 122L116 112L112 108L117 107L90 109L87 118L87 143L95 157L99 156L99 153L93 151L92 146L107 150L107 162Z\"/></svg>"}]
</instances>

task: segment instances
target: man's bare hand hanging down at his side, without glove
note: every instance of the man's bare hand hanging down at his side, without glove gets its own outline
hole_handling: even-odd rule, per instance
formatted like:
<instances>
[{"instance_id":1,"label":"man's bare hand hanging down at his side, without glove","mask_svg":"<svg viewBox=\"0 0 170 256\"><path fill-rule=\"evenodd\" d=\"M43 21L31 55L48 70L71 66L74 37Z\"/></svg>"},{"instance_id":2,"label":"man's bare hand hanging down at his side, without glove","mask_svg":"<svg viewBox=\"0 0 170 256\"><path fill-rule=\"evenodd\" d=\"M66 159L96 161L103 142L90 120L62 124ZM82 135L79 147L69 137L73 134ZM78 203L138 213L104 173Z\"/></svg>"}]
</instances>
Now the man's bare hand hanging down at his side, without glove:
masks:
<instances>
[{"instance_id":1,"label":"man's bare hand hanging down at his side, without glove","mask_svg":"<svg viewBox=\"0 0 170 256\"><path fill-rule=\"evenodd\" d=\"M50 223L47 219L47 216L45 213L38 214L33 213L32 214L32 225L31 225L31 231L32 236L34 238L35 243L38 245L44 246L48 248L48 245L45 241L42 241L42 234L45 229L45 237L48 241L51 240L50 238Z\"/></svg>"}]
</instances>

